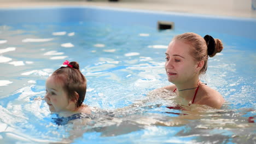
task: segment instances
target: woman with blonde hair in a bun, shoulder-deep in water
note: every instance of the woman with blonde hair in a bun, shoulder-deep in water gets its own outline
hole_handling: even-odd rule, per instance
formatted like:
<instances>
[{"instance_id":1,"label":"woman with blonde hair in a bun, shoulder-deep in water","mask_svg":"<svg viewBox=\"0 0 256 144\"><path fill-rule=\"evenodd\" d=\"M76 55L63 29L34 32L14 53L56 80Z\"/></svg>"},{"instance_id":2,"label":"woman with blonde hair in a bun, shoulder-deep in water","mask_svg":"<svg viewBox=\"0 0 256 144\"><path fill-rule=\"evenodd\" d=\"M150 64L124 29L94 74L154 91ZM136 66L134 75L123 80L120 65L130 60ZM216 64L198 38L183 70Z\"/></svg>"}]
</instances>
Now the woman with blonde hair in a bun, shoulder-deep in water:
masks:
<instances>
[{"instance_id":1,"label":"woman with blonde hair in a bun, shoulder-deep in water","mask_svg":"<svg viewBox=\"0 0 256 144\"><path fill-rule=\"evenodd\" d=\"M176 93L185 105L220 109L224 103L222 95L201 82L199 76L206 73L208 56L213 57L222 49L222 41L210 35L202 38L195 33L183 33L174 37L165 53L166 74L174 85L163 89Z\"/></svg>"}]
</instances>

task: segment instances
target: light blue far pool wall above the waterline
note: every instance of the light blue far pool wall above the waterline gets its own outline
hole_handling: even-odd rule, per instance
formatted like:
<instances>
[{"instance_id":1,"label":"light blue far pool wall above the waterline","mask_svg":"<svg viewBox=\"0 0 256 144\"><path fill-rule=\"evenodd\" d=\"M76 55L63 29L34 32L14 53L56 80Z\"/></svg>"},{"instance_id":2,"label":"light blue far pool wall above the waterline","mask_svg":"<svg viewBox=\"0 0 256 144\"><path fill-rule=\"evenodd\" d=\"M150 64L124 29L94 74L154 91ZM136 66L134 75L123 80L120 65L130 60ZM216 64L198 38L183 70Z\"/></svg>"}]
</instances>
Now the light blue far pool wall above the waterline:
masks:
<instances>
[{"instance_id":1,"label":"light blue far pool wall above the waterline","mask_svg":"<svg viewBox=\"0 0 256 144\"><path fill-rule=\"evenodd\" d=\"M170 21L174 22L175 29L182 31L216 32L256 39L256 19L246 17L80 6L0 9L0 25L71 21L97 21L119 26L141 25L155 28L158 27L158 21Z\"/></svg>"}]
</instances>

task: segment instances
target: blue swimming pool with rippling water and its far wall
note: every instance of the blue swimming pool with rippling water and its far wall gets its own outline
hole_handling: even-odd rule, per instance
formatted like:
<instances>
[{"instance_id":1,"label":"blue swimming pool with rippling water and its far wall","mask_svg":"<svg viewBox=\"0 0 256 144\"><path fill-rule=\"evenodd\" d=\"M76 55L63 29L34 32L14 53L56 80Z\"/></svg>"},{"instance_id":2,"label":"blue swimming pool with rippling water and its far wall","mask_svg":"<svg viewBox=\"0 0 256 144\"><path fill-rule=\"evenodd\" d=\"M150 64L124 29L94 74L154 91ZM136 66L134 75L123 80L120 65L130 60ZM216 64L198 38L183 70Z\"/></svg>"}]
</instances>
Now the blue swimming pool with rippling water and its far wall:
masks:
<instances>
[{"instance_id":1,"label":"blue swimming pool with rippling water and its far wall","mask_svg":"<svg viewBox=\"0 0 256 144\"><path fill-rule=\"evenodd\" d=\"M255 19L96 7L1 9L0 17L3 143L255 142ZM174 30L158 31L159 20L174 22ZM170 84L166 46L188 31L224 43L202 77L226 99L221 110L168 109L172 99L147 97ZM54 115L39 99L48 75L66 59L79 62L88 80L84 103L100 109L74 137L70 125L51 122Z\"/></svg>"}]
</instances>

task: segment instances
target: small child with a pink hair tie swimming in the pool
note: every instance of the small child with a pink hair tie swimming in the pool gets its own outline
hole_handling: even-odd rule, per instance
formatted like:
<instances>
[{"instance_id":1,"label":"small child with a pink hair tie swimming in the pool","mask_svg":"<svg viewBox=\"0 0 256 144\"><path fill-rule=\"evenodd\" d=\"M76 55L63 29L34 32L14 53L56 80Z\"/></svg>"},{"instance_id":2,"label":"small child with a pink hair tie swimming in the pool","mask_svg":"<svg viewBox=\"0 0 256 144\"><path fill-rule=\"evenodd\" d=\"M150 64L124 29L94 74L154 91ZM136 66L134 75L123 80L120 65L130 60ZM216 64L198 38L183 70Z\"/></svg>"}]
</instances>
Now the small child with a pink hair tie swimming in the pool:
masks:
<instances>
[{"instance_id":1,"label":"small child with a pink hair tie swimming in the pool","mask_svg":"<svg viewBox=\"0 0 256 144\"><path fill-rule=\"evenodd\" d=\"M45 101L51 112L57 113L55 123L65 125L75 119L88 121L91 110L83 104L86 79L77 62L65 61L61 68L46 80Z\"/></svg>"}]
</instances>

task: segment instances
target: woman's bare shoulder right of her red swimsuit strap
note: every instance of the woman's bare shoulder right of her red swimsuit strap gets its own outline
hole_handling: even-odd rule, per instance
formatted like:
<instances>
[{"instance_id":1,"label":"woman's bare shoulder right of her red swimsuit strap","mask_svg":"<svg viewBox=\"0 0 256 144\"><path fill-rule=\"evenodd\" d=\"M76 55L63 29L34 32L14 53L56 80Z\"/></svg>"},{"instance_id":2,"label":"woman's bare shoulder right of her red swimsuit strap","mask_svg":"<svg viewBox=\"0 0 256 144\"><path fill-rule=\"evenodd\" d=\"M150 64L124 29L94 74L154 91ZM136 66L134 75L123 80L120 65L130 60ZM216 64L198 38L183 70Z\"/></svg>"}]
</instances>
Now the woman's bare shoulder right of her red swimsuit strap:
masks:
<instances>
[{"instance_id":1,"label":"woman's bare shoulder right of her red swimsuit strap","mask_svg":"<svg viewBox=\"0 0 256 144\"><path fill-rule=\"evenodd\" d=\"M197 102L197 104L208 105L217 109L220 109L220 107L222 107L225 100L218 91L206 85L202 85L200 89L200 95L202 96L201 99Z\"/></svg>"}]
</instances>

